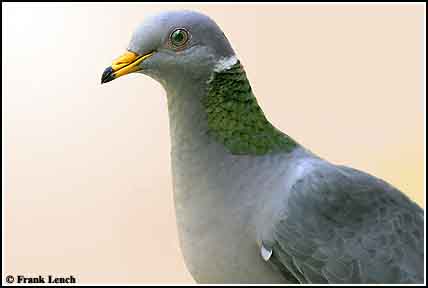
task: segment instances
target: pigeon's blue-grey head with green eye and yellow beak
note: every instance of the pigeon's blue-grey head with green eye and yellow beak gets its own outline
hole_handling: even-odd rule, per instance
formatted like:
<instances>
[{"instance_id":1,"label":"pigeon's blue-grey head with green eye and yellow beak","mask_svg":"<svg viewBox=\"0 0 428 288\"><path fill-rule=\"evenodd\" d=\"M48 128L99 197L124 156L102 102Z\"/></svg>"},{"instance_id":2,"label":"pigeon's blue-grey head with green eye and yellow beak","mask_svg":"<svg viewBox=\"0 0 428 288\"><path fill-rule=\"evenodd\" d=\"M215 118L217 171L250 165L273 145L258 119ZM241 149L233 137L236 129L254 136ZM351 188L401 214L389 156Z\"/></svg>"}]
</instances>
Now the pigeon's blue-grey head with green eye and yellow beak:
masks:
<instances>
[{"instance_id":1,"label":"pigeon's blue-grey head with green eye and yellow beak","mask_svg":"<svg viewBox=\"0 0 428 288\"><path fill-rule=\"evenodd\" d=\"M134 72L163 85L191 83L233 55L226 36L209 17L187 10L163 12L138 26L127 51L105 69L101 83Z\"/></svg>"}]
</instances>

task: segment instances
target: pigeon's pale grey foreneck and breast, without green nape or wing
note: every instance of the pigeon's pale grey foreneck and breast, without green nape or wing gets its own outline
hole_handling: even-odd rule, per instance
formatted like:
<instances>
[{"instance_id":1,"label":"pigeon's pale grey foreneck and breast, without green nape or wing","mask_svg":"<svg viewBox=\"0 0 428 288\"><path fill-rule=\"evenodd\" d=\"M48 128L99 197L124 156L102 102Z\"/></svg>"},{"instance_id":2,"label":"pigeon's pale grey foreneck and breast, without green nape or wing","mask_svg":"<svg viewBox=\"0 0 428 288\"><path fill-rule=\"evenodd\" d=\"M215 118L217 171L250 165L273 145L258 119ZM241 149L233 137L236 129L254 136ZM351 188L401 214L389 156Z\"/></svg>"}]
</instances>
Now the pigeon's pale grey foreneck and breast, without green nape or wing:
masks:
<instances>
[{"instance_id":1,"label":"pigeon's pale grey foreneck and breast, without green nape or wing","mask_svg":"<svg viewBox=\"0 0 428 288\"><path fill-rule=\"evenodd\" d=\"M284 281L260 257L257 229L271 219L272 211L262 211L263 202L285 196L278 188L293 163L286 159L306 153L296 149L282 155L283 161L278 155L231 154L207 133L205 108L194 101L205 91L167 89L175 209L187 267L203 283ZM188 101L175 103L183 95ZM273 171L273 163L281 167Z\"/></svg>"}]
</instances>

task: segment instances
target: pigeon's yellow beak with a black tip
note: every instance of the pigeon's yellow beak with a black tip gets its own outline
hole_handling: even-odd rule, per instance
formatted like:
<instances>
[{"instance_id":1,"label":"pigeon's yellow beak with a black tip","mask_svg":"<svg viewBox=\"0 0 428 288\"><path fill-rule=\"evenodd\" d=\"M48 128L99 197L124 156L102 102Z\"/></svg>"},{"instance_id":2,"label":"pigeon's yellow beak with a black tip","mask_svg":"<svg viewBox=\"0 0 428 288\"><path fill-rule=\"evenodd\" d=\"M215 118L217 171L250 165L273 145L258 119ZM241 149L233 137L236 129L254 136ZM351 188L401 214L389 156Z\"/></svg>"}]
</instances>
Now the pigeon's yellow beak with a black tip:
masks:
<instances>
[{"instance_id":1,"label":"pigeon's yellow beak with a black tip","mask_svg":"<svg viewBox=\"0 0 428 288\"><path fill-rule=\"evenodd\" d=\"M145 55L138 55L137 53L126 51L122 56L113 61L110 67L104 70L101 77L101 84L110 82L120 76L136 72L140 70L138 65L149 58L154 52Z\"/></svg>"}]
</instances>

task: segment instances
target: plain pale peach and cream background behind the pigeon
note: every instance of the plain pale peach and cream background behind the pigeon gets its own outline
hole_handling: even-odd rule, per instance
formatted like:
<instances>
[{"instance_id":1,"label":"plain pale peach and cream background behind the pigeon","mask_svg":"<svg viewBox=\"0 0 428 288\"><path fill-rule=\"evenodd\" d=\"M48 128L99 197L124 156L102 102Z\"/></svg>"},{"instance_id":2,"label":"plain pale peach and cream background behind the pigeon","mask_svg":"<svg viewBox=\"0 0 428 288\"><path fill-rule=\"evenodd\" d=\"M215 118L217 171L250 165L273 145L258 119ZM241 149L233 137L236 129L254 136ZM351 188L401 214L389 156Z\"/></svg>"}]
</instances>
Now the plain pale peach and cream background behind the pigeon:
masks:
<instances>
[{"instance_id":1,"label":"plain pale peach and cream background behind the pigeon","mask_svg":"<svg viewBox=\"0 0 428 288\"><path fill-rule=\"evenodd\" d=\"M2 5L3 280L193 282L165 92L141 75L99 84L138 23L165 9L216 20L275 125L425 207L423 5Z\"/></svg>"}]
</instances>

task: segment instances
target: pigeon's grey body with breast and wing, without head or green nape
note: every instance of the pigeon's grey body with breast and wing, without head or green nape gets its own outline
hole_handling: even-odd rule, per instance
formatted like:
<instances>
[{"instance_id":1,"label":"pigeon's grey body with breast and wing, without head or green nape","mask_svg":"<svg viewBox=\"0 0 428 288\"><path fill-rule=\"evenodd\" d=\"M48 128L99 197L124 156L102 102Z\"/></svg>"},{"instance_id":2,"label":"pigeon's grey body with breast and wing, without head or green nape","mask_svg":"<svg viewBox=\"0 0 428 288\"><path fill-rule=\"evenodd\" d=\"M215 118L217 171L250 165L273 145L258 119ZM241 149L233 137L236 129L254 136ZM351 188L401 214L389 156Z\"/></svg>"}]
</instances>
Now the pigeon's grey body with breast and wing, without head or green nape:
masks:
<instances>
[{"instance_id":1,"label":"pigeon's grey body with breast and wing, without head or green nape","mask_svg":"<svg viewBox=\"0 0 428 288\"><path fill-rule=\"evenodd\" d=\"M234 69L228 68L223 75ZM419 207L387 183L299 145L232 153L212 135L205 102L194 101L206 99L210 84L167 91L177 223L196 281L423 281ZM191 95L188 102L184 95ZM254 133L249 137L260 136ZM273 250L273 266L288 272L271 269L260 257L262 245Z\"/></svg>"}]
</instances>

